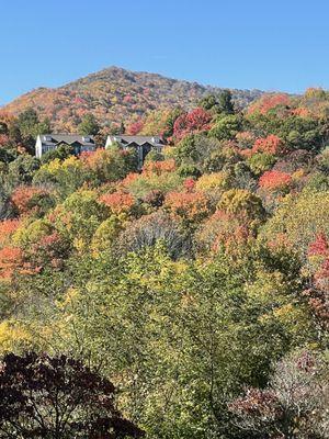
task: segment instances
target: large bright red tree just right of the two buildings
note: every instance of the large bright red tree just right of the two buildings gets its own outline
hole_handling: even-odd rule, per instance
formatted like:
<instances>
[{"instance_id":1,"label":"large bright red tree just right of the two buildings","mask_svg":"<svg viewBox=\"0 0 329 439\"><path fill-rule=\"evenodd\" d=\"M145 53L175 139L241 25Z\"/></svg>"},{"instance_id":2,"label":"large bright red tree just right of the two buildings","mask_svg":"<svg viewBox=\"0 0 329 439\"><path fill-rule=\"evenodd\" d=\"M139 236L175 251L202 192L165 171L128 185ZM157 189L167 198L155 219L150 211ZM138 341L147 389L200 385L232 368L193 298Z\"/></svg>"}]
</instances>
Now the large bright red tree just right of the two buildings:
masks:
<instances>
[{"instance_id":1,"label":"large bright red tree just right of the two buildings","mask_svg":"<svg viewBox=\"0 0 329 439\"><path fill-rule=\"evenodd\" d=\"M173 136L180 140L188 134L209 130L212 116L204 109L195 109L190 113L180 115L173 125Z\"/></svg>"}]
</instances>

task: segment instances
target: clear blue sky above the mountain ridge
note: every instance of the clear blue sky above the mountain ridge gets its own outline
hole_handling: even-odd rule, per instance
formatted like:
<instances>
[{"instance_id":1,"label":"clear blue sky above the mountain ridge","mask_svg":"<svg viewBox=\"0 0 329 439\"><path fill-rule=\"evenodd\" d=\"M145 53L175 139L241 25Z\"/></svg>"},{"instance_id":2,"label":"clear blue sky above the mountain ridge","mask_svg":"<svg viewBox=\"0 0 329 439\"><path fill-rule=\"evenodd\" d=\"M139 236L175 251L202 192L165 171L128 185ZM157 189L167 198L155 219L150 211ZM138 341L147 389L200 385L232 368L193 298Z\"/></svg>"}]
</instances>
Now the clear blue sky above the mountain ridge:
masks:
<instances>
[{"instance_id":1,"label":"clear blue sky above the mountain ridge","mask_svg":"<svg viewBox=\"0 0 329 439\"><path fill-rule=\"evenodd\" d=\"M220 87L329 88L328 0L11 0L0 105L104 67Z\"/></svg>"}]
</instances>

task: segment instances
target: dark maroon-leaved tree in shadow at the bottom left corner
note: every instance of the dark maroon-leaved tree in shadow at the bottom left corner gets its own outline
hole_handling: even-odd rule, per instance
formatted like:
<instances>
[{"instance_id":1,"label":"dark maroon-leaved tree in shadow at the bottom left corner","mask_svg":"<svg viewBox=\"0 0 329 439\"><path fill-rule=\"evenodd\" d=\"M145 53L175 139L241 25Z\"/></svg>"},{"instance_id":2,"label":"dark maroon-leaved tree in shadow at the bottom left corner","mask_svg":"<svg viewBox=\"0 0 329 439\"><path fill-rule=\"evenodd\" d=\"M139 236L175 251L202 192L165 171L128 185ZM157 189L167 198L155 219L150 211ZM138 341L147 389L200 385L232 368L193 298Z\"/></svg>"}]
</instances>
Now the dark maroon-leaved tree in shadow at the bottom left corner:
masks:
<instances>
[{"instance_id":1,"label":"dark maroon-leaved tree in shadow at the bottom left corner","mask_svg":"<svg viewBox=\"0 0 329 439\"><path fill-rule=\"evenodd\" d=\"M144 432L114 404L114 385L80 361L9 353L0 369L3 439L118 439Z\"/></svg>"}]
</instances>

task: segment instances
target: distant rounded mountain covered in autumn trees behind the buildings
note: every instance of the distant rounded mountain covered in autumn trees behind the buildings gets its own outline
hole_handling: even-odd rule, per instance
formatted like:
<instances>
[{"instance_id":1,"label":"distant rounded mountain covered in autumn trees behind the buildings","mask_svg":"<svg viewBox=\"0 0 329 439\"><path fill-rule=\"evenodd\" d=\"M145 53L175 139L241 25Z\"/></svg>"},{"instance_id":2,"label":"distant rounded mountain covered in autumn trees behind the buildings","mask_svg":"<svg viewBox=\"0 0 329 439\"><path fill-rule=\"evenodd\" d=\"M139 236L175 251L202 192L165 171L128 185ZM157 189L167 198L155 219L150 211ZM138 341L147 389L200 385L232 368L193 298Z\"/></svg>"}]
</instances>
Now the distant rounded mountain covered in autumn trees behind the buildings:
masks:
<instances>
[{"instance_id":1,"label":"distant rounded mountain covered in autumn trees behind the buildings","mask_svg":"<svg viewBox=\"0 0 329 439\"><path fill-rule=\"evenodd\" d=\"M3 109L19 114L34 108L49 117L55 131L73 131L86 113L93 113L103 125L134 121L156 109L195 106L220 88L110 67L58 88L37 88ZM231 90L236 104L245 108L261 95L259 90Z\"/></svg>"}]
</instances>

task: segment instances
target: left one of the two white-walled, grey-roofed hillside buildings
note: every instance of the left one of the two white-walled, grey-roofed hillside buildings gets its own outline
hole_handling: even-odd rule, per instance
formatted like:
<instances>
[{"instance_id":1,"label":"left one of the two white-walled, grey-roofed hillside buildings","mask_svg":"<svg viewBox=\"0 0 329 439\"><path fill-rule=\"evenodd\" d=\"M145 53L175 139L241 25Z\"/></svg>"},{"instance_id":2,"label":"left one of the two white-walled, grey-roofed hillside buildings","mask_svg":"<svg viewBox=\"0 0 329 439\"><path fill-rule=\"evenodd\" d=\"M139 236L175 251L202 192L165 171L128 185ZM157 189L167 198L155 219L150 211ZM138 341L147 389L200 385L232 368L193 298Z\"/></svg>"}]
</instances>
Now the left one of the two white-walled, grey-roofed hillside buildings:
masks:
<instances>
[{"instance_id":1,"label":"left one of the two white-walled, grey-roofed hillside buildings","mask_svg":"<svg viewBox=\"0 0 329 439\"><path fill-rule=\"evenodd\" d=\"M70 146L72 154L95 150L93 136L79 134L39 134L35 143L35 156L41 158L45 153L57 149L59 146Z\"/></svg>"}]
</instances>

